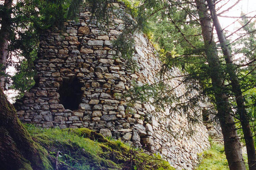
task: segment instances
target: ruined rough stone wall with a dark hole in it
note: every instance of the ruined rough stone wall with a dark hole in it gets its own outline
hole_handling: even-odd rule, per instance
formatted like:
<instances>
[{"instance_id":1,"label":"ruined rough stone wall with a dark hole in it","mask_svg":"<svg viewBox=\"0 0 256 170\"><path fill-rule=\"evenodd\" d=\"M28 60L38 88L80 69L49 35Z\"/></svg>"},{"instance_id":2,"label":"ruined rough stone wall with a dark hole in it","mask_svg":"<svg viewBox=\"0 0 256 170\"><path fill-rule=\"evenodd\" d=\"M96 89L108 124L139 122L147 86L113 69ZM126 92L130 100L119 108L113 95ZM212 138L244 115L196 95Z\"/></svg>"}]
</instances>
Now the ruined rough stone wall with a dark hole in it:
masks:
<instances>
[{"instance_id":1,"label":"ruined rough stone wall with a dark hole in it","mask_svg":"<svg viewBox=\"0 0 256 170\"><path fill-rule=\"evenodd\" d=\"M156 112L154 106L140 102L127 107L122 95L132 88L132 81L138 85L154 83L161 62L141 33L134 35L133 59L139 71L130 71L124 58L114 57L112 40L124 29L118 16L125 6L112 5L116 9L104 29L99 29L96 19L84 10L78 23L65 22L65 31L55 28L42 34L35 62L36 84L15 103L17 114L23 122L43 128L93 129L159 152L177 169L191 169L198 163L197 153L209 147L207 130L203 123L190 126L182 109L170 111L167 107ZM170 74L181 75L176 68ZM178 79L169 81L172 87L178 83ZM179 97L185 90L182 84L173 94ZM197 104L187 112L201 114L199 106L206 104ZM192 136L187 133L191 128L195 130Z\"/></svg>"}]
</instances>

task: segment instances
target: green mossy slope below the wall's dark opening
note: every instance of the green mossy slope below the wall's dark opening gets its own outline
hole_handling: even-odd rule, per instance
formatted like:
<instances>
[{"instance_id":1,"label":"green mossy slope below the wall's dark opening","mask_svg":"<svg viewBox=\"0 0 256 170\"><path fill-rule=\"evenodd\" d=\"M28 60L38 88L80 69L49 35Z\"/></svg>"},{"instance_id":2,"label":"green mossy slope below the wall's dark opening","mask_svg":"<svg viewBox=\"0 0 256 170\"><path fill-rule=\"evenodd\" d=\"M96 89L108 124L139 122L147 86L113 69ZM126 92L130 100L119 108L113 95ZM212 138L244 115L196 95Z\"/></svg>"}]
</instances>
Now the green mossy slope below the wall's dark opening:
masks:
<instances>
[{"instance_id":1,"label":"green mossy slope below the wall's dark opening","mask_svg":"<svg viewBox=\"0 0 256 170\"><path fill-rule=\"evenodd\" d=\"M55 169L60 151L59 170L174 170L159 155L148 155L86 128L60 130L25 126L32 139L47 150Z\"/></svg>"}]
</instances>

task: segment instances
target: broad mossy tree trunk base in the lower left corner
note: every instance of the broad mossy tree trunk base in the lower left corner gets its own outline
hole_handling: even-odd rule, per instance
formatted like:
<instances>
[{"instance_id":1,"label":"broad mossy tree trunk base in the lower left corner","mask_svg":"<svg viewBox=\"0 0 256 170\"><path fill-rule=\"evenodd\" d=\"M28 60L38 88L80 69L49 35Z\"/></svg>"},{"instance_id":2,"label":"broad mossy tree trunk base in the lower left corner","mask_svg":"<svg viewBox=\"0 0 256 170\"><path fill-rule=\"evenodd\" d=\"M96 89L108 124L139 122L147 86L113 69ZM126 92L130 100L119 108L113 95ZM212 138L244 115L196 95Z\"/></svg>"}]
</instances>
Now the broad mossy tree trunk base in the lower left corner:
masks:
<instances>
[{"instance_id":1,"label":"broad mossy tree trunk base in the lower left corner","mask_svg":"<svg viewBox=\"0 0 256 170\"><path fill-rule=\"evenodd\" d=\"M20 123L12 104L0 89L0 169L51 170L46 151Z\"/></svg>"}]
</instances>

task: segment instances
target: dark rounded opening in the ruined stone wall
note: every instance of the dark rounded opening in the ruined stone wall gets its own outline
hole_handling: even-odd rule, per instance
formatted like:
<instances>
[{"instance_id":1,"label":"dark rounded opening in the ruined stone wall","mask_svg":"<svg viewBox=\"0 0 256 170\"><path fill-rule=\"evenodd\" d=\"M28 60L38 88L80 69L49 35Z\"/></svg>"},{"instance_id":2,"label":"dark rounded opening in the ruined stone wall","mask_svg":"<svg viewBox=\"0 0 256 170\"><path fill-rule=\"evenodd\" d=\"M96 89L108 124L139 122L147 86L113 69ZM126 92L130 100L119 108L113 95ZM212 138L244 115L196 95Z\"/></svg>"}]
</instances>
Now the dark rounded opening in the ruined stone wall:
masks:
<instances>
[{"instance_id":1,"label":"dark rounded opening in the ruined stone wall","mask_svg":"<svg viewBox=\"0 0 256 170\"><path fill-rule=\"evenodd\" d=\"M63 79L58 90L59 104L62 104L65 109L77 110L82 97L81 87L82 85L77 78Z\"/></svg>"}]
</instances>

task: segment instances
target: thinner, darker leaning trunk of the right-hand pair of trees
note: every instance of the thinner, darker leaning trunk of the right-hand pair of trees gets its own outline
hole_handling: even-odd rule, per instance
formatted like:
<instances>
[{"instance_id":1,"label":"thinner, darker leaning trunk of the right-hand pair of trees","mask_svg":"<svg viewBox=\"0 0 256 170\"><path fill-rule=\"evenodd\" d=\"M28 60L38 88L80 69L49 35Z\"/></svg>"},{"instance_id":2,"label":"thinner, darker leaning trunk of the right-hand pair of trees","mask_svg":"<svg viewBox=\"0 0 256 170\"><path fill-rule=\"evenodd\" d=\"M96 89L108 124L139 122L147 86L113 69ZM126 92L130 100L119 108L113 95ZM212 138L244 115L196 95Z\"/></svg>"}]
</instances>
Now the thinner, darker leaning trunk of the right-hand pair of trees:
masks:
<instances>
[{"instance_id":1,"label":"thinner, darker leaning trunk of the right-hand pair of trees","mask_svg":"<svg viewBox=\"0 0 256 170\"><path fill-rule=\"evenodd\" d=\"M244 134L244 140L247 150L247 156L248 156L248 165L249 170L256 170L256 152L255 152L255 146L254 146L254 140L253 135L251 132L250 122L248 118L248 113L245 109L245 99L242 94L240 82L238 80L237 74L236 74L236 68L233 65L231 53L228 48L228 44L226 41L226 38L223 34L221 24L219 23L214 4L212 0L207 0L207 3L209 5L210 11L211 11L211 17L213 19L213 24L216 29L219 43L221 44L221 48L224 54L224 58L226 61L227 66L227 72L229 74L229 79L231 81L231 91L236 97L236 103L237 103L237 113L239 114L242 130Z\"/></svg>"}]
</instances>

